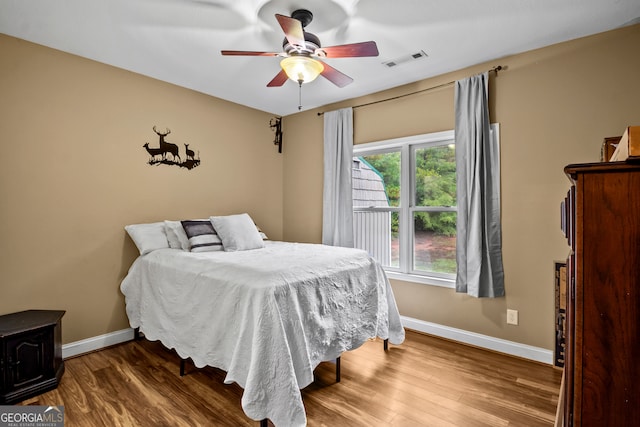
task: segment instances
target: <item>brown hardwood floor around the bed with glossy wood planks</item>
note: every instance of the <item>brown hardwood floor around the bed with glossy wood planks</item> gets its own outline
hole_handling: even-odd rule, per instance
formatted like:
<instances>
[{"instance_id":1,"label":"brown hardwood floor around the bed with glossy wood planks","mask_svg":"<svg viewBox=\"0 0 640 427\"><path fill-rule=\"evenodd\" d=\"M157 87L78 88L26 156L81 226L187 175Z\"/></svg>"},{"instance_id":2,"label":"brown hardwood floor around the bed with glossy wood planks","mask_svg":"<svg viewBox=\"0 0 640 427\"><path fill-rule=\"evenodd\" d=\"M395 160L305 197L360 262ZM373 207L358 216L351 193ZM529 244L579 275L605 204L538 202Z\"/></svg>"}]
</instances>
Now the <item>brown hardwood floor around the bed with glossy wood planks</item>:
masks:
<instances>
[{"instance_id":1,"label":"brown hardwood floor around the bed with glossy wood planks","mask_svg":"<svg viewBox=\"0 0 640 427\"><path fill-rule=\"evenodd\" d=\"M65 361L57 389L22 405L64 405L66 427L254 426L242 389L158 342L128 342ZM313 426L552 426L561 371L407 331L400 346L369 341L322 363L303 390ZM271 425L271 424L270 424Z\"/></svg>"}]
</instances>

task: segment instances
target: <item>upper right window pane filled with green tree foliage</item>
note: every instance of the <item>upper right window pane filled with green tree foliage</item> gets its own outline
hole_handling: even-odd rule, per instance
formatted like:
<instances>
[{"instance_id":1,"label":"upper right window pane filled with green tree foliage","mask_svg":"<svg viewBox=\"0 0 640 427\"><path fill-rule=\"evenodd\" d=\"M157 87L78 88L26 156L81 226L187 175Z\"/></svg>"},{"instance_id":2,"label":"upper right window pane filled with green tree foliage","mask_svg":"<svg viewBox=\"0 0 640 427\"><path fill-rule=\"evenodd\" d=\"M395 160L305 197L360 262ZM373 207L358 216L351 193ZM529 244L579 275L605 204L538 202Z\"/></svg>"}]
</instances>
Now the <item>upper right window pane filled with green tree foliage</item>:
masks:
<instances>
[{"instance_id":1,"label":"upper right window pane filled with green tree foliage","mask_svg":"<svg viewBox=\"0 0 640 427\"><path fill-rule=\"evenodd\" d=\"M416 206L456 206L455 145L415 150Z\"/></svg>"}]
</instances>

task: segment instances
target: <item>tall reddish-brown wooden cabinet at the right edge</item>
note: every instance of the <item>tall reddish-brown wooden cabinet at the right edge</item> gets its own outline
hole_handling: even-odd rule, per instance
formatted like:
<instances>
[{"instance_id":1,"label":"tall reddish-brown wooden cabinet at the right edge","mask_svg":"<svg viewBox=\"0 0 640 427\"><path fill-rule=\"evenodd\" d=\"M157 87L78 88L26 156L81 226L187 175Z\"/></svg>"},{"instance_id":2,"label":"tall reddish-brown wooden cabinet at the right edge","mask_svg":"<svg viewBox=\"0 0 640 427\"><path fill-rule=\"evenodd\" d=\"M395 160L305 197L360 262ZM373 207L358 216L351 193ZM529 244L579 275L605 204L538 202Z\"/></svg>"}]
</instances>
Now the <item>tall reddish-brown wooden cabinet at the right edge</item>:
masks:
<instances>
[{"instance_id":1,"label":"tall reddish-brown wooden cabinet at the right edge","mask_svg":"<svg viewBox=\"0 0 640 427\"><path fill-rule=\"evenodd\" d=\"M640 164L569 165L564 426L640 425Z\"/></svg>"}]
</instances>

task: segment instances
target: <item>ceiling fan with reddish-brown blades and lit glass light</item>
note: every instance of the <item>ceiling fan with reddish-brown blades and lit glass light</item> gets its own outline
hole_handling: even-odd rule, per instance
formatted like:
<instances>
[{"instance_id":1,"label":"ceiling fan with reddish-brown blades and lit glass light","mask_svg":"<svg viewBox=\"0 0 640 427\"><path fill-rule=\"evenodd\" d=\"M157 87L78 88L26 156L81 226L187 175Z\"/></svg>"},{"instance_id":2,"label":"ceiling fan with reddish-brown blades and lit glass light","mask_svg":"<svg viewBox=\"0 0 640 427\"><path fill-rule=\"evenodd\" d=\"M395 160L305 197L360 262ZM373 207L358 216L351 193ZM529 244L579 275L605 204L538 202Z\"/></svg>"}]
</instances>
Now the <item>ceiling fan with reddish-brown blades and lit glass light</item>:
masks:
<instances>
[{"instance_id":1,"label":"ceiling fan with reddish-brown blades and lit glass light","mask_svg":"<svg viewBox=\"0 0 640 427\"><path fill-rule=\"evenodd\" d=\"M282 70L267 84L267 87L282 86L287 79L302 86L303 83L315 80L318 75L338 87L344 87L353 82L353 79L316 58L378 56L378 47L374 41L322 47L316 35L304 31L304 28L313 20L313 14L306 9L295 10L291 17L276 14L276 19L285 34L282 52L221 51L222 55L232 56L283 57L284 59L280 62Z\"/></svg>"}]
</instances>

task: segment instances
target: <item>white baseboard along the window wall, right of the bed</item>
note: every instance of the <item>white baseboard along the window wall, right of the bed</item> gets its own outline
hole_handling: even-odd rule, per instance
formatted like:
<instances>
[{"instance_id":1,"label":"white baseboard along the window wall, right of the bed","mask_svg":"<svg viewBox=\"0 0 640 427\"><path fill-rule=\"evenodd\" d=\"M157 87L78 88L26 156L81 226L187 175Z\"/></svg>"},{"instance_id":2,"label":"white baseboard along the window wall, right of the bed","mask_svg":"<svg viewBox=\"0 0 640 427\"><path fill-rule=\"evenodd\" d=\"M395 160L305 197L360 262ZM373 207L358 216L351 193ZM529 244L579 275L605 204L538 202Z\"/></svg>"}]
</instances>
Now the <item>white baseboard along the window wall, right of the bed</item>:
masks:
<instances>
[{"instance_id":1,"label":"white baseboard along the window wall, right of the bed","mask_svg":"<svg viewBox=\"0 0 640 427\"><path fill-rule=\"evenodd\" d=\"M453 341L473 345L475 347L498 351L500 353L522 357L524 359L534 360L548 365L553 364L553 351L551 350L494 338L488 335L476 334L475 332L451 328L437 323L425 322L424 320L413 319L411 317L400 316L400 318L402 319L402 324L406 328L413 329L418 332L424 332L425 334L447 338Z\"/></svg>"}]
</instances>

